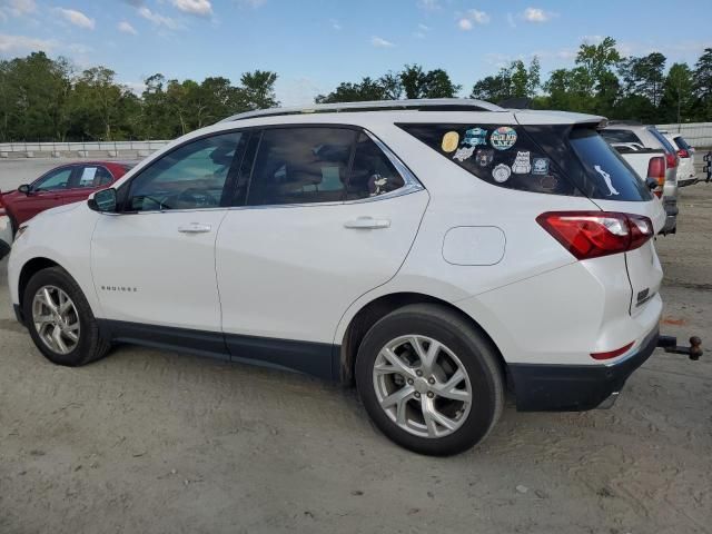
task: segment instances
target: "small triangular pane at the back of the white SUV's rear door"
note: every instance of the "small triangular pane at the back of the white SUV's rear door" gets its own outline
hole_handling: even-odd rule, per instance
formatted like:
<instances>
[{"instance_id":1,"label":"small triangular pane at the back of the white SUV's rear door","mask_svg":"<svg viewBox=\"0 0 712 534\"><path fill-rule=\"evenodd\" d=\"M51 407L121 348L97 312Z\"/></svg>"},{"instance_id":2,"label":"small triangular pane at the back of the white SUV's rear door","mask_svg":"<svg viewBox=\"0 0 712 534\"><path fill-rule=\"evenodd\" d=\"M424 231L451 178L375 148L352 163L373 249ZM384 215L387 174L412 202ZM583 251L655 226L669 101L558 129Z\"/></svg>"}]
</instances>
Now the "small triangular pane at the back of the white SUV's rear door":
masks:
<instances>
[{"instance_id":1,"label":"small triangular pane at the back of the white SUV's rear door","mask_svg":"<svg viewBox=\"0 0 712 534\"><path fill-rule=\"evenodd\" d=\"M377 197L405 185L390 160L366 135L359 134L348 178L347 200Z\"/></svg>"}]
</instances>

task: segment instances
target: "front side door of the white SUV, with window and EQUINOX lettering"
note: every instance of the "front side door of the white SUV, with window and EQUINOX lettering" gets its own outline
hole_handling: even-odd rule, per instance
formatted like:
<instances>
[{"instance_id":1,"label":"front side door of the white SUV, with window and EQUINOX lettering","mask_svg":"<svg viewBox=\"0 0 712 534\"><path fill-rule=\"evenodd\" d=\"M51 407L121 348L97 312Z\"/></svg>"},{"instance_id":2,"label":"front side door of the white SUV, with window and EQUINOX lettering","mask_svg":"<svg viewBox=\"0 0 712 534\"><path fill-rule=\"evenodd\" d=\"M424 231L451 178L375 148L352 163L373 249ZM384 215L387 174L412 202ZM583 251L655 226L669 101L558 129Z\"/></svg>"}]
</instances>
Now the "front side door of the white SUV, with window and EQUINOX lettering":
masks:
<instances>
[{"instance_id":1,"label":"front side door of the white SUV, with window and EQUINOX lettering","mask_svg":"<svg viewBox=\"0 0 712 534\"><path fill-rule=\"evenodd\" d=\"M116 338L225 353L215 239L240 139L222 132L162 155L121 186L118 215L100 216L91 266Z\"/></svg>"}]
</instances>

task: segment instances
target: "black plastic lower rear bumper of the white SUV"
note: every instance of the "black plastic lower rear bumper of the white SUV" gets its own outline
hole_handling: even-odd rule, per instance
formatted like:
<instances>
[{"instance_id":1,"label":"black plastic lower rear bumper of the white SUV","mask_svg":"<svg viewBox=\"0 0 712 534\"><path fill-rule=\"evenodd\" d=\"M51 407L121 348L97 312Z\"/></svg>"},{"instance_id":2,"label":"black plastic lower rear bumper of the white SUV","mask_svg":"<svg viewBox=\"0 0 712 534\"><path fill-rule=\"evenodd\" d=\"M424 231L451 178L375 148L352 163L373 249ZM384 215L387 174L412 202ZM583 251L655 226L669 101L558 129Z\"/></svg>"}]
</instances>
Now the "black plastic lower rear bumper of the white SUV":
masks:
<instances>
[{"instance_id":1,"label":"black plastic lower rear bumper of the white SUV","mask_svg":"<svg viewBox=\"0 0 712 534\"><path fill-rule=\"evenodd\" d=\"M517 411L582 412L597 407L620 392L653 354L657 337L655 328L635 353L610 366L510 364Z\"/></svg>"}]
</instances>

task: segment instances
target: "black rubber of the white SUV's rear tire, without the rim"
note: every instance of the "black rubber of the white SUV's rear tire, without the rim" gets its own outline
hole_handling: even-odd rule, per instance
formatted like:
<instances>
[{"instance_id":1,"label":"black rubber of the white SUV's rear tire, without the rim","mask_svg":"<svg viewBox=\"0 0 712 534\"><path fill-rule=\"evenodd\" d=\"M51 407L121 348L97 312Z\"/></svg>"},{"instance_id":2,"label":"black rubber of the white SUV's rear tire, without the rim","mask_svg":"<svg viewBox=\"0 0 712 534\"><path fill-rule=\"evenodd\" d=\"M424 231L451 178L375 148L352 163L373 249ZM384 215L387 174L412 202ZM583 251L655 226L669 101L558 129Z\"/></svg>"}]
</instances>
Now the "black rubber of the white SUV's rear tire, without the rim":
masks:
<instances>
[{"instance_id":1,"label":"black rubber of the white SUV's rear tire, without the rim","mask_svg":"<svg viewBox=\"0 0 712 534\"><path fill-rule=\"evenodd\" d=\"M380 407L373 378L376 358L386 344L407 335L427 336L446 345L469 377L469 413L452 434L442 437L412 434ZM359 396L375 425L398 445L419 454L449 456L467 451L490 434L504 407L504 380L496 348L483 333L442 305L409 305L378 320L358 348L355 375Z\"/></svg>"}]
</instances>

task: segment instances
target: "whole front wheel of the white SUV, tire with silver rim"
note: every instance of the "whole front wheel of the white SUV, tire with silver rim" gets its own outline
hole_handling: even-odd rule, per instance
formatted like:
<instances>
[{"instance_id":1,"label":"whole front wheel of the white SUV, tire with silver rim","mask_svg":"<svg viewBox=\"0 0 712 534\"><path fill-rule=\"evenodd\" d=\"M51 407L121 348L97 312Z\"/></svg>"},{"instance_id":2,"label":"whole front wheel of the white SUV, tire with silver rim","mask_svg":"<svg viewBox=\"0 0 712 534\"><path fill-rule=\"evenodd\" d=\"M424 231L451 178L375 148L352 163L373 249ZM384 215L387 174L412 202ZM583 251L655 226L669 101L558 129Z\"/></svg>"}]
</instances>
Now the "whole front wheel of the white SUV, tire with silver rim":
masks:
<instances>
[{"instance_id":1,"label":"whole front wheel of the white SUV, tire with silver rim","mask_svg":"<svg viewBox=\"0 0 712 534\"><path fill-rule=\"evenodd\" d=\"M34 300L39 291L42 291L44 295L44 288L50 291L50 298L56 309L60 309L58 306L58 303L60 301L66 304L67 300L69 300L73 306L73 308L69 308L65 313L65 317L62 317L62 320L66 319L66 323L62 323L63 328L57 326L57 323L60 322L60 319L52 315L51 308L48 305L43 304L47 301L47 298L40 297L40 303L36 303ZM61 297L59 296L60 291L66 296L63 300L61 300ZM39 308L36 308L36 306L39 306ZM27 327L30 330L30 336L32 337L34 345L47 357L47 359L55 364L69 367L86 365L102 358L111 347L109 340L101 336L97 319L95 318L81 288L61 267L51 267L40 270L30 278L30 281L24 289L22 308ZM33 310L36 309L39 309L38 316L33 315ZM40 325L43 325L44 328L40 326L38 330L38 323L36 322L36 318L49 318L50 316L52 318L52 323L39 323ZM61 330L59 337L65 345L66 352L60 352L50 346L50 344L57 345L57 342L46 340L46 337L52 337L52 334L55 334L57 328ZM70 332L73 328L76 328L76 332ZM42 330L43 335L40 334L40 330ZM67 334L65 334L65 332L67 332ZM75 334L77 337L76 342L69 337L71 334Z\"/></svg>"}]
</instances>

